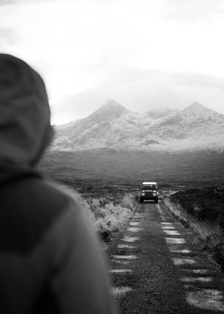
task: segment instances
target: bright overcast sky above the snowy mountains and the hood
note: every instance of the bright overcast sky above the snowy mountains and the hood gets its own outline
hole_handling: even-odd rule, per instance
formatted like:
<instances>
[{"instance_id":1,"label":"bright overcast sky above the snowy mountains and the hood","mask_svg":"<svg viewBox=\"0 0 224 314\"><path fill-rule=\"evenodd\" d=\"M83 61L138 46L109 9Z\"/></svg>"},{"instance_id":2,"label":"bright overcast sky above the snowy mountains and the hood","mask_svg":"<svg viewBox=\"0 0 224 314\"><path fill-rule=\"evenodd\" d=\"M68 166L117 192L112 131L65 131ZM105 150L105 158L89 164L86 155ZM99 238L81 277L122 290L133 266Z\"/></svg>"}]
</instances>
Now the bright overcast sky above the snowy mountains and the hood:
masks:
<instances>
[{"instance_id":1,"label":"bright overcast sky above the snowy mountains and the hood","mask_svg":"<svg viewBox=\"0 0 224 314\"><path fill-rule=\"evenodd\" d=\"M44 78L52 123L108 98L224 114L222 0L0 0L0 51Z\"/></svg>"}]
</instances>

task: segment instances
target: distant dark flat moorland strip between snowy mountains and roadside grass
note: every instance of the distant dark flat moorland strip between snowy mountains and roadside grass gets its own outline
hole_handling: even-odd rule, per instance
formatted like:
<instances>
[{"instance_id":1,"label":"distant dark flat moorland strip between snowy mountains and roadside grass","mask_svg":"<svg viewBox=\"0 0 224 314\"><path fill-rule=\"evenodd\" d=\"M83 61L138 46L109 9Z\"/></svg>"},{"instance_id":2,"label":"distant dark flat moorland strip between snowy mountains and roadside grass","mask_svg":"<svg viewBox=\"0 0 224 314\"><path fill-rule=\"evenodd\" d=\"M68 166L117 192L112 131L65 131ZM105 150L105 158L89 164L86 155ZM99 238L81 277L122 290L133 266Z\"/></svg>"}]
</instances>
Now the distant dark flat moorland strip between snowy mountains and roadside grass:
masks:
<instances>
[{"instance_id":1,"label":"distant dark flat moorland strip between snowy mountains and roadside grass","mask_svg":"<svg viewBox=\"0 0 224 314\"><path fill-rule=\"evenodd\" d=\"M224 152L91 149L46 152L40 169L74 188L139 189L143 181L185 190L224 183Z\"/></svg>"}]
</instances>

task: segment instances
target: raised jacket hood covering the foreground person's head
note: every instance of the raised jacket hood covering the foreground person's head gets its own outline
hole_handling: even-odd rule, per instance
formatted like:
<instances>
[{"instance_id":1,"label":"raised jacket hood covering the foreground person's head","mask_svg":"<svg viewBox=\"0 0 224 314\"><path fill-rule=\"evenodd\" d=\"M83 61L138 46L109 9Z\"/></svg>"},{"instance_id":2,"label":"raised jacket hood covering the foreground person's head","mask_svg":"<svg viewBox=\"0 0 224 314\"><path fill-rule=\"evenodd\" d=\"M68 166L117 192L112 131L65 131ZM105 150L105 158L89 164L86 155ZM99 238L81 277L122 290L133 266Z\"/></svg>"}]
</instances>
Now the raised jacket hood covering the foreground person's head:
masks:
<instances>
[{"instance_id":1,"label":"raised jacket hood covering the foreground person's head","mask_svg":"<svg viewBox=\"0 0 224 314\"><path fill-rule=\"evenodd\" d=\"M33 169L53 135L45 84L27 63L0 54L0 168Z\"/></svg>"}]
</instances>

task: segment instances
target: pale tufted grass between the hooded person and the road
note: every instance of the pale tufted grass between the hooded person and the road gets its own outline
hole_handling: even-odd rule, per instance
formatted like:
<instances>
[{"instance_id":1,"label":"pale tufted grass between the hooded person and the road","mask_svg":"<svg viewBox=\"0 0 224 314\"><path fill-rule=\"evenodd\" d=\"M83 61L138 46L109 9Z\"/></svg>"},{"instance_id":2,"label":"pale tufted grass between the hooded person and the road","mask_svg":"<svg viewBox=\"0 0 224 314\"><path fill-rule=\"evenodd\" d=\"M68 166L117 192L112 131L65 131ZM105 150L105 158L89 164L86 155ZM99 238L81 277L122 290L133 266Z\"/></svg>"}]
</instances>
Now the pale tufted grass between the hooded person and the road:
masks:
<instances>
[{"instance_id":1,"label":"pale tufted grass between the hooded person and the road","mask_svg":"<svg viewBox=\"0 0 224 314\"><path fill-rule=\"evenodd\" d=\"M59 185L66 193L83 204L91 222L95 225L104 242L116 237L122 225L132 216L136 201L133 193L125 190L86 190L76 191Z\"/></svg>"}]
</instances>

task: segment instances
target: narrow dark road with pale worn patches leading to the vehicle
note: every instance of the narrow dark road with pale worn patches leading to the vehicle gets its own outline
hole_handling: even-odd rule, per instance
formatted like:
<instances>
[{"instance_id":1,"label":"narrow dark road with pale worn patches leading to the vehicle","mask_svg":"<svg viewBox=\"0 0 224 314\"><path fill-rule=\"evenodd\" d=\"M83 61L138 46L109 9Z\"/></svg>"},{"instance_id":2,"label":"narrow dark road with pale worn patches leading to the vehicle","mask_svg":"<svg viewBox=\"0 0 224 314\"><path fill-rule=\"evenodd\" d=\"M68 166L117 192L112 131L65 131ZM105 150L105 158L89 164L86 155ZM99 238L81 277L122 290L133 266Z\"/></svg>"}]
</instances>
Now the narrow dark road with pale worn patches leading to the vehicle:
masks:
<instances>
[{"instance_id":1,"label":"narrow dark road with pale worn patches leading to the vehicle","mask_svg":"<svg viewBox=\"0 0 224 314\"><path fill-rule=\"evenodd\" d=\"M224 312L224 275L162 202L144 202L107 249L119 313Z\"/></svg>"}]
</instances>

